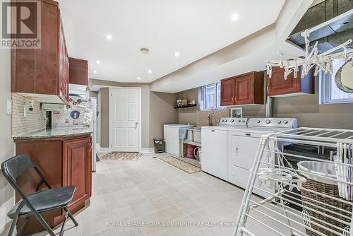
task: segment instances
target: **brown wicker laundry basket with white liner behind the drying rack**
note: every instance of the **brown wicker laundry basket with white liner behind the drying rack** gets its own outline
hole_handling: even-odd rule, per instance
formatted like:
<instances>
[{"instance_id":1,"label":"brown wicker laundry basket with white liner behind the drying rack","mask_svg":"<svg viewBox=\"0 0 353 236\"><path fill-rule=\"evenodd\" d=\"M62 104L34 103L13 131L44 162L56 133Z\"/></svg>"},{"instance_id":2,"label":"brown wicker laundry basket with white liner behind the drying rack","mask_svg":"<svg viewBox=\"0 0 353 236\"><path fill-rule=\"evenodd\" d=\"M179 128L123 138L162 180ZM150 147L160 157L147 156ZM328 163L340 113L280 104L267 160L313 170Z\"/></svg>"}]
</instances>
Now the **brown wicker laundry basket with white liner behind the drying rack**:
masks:
<instances>
[{"instance_id":1,"label":"brown wicker laundry basket with white liner behind the drying rack","mask_svg":"<svg viewBox=\"0 0 353 236\"><path fill-rule=\"evenodd\" d=\"M352 213L352 205L344 203L342 201L337 201L335 199L330 199L327 196L321 196L310 191L313 190L328 196L340 198L337 182L333 180L336 179L335 165L333 165L332 163L323 163L318 161L300 161L298 163L298 170L299 172L301 172L301 175L306 178L306 182L304 182L302 185L303 189L301 189L301 196L303 199L304 206L303 215L309 215L311 221L319 224L316 225L311 223L311 228L328 236L345 235L343 229L347 228L347 225L341 223L339 220L343 220L347 223L349 223L350 220L340 215L344 215L348 218L351 218L350 214L345 211ZM311 175L311 173L315 175ZM320 177L318 175L322 175L323 177ZM330 177L333 179L327 179L325 177ZM323 210L323 207L328 211ZM337 210L337 208L340 208L343 211L339 211ZM329 218L328 216L323 216L324 214L328 216L333 216L338 220ZM329 223L337 226L338 228L342 228L342 231L338 230L337 228L333 228L330 225L326 225L325 223ZM306 223L306 225L307 224L308 223ZM321 227L321 225L323 225L325 228L335 230L337 234L326 230L325 228ZM306 235L319 236L318 233L313 232L309 229L306 229Z\"/></svg>"}]
</instances>

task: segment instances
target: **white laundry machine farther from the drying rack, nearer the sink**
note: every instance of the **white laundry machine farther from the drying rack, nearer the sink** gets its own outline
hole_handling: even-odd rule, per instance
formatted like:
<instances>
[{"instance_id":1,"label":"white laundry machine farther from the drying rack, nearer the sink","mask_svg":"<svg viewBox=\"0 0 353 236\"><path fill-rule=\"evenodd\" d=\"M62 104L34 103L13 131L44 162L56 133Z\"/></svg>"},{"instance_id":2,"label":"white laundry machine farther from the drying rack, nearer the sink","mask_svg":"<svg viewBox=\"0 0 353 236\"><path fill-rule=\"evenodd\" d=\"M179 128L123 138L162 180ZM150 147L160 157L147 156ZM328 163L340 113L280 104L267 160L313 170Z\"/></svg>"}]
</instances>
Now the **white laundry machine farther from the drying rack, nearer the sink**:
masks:
<instances>
[{"instance_id":1,"label":"white laundry machine farther from the drying rack, nearer the sink","mask_svg":"<svg viewBox=\"0 0 353 236\"><path fill-rule=\"evenodd\" d=\"M247 118L222 118L219 126L201 127L201 169L228 181L228 129L246 127Z\"/></svg>"}]
</instances>

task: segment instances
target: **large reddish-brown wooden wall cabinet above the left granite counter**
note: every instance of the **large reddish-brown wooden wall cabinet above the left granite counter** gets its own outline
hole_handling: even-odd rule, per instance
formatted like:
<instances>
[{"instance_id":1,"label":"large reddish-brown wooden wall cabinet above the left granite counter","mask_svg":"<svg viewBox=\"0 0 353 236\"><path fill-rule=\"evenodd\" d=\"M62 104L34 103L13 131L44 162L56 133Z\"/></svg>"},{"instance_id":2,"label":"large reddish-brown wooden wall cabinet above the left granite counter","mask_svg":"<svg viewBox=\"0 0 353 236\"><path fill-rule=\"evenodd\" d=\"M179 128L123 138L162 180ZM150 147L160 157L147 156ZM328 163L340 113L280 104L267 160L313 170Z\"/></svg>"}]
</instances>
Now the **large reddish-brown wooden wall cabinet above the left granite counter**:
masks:
<instances>
[{"instance_id":1,"label":"large reddish-brown wooden wall cabinet above the left granite counter","mask_svg":"<svg viewBox=\"0 0 353 236\"><path fill-rule=\"evenodd\" d=\"M41 47L11 49L11 92L53 95L66 103L68 59L59 5L52 0L40 2Z\"/></svg>"}]
</instances>

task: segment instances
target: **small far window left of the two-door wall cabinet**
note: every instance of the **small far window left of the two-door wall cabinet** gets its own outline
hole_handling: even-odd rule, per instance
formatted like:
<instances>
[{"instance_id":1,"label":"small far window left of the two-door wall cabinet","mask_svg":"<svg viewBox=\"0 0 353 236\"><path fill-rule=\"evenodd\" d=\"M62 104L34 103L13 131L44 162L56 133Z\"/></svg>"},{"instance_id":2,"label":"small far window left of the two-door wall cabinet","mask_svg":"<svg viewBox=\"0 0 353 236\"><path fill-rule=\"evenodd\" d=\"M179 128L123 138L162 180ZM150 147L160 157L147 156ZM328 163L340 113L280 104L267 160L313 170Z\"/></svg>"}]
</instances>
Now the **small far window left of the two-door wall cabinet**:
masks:
<instances>
[{"instance_id":1,"label":"small far window left of the two-door wall cabinet","mask_svg":"<svg viewBox=\"0 0 353 236\"><path fill-rule=\"evenodd\" d=\"M200 110L222 110L220 105L220 83L211 83L198 89Z\"/></svg>"}]
</instances>

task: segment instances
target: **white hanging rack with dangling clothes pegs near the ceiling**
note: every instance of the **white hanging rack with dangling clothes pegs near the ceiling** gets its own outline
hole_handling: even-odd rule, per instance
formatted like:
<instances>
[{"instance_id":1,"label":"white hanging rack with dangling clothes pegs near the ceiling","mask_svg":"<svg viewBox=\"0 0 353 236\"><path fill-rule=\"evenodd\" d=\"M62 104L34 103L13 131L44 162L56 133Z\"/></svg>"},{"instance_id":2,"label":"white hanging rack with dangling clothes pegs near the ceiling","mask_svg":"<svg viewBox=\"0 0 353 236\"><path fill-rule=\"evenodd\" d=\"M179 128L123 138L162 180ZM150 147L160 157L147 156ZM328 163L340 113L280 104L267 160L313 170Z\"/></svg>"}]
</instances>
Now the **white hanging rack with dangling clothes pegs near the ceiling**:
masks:
<instances>
[{"instance_id":1,"label":"white hanging rack with dangling clothes pegs near the ceiling","mask_svg":"<svg viewBox=\"0 0 353 236\"><path fill-rule=\"evenodd\" d=\"M268 61L266 65L266 73L271 78L272 76L272 67L279 66L280 68L285 68L285 80L290 73L294 73L294 78L297 78L297 73L299 71L299 66L303 66L301 71L301 78L304 78L309 71L315 66L314 76L317 76L320 71L324 71L325 73L332 73L333 59L343 58L345 61L350 59L353 56L353 49L347 49L347 46L352 43L352 40L347 40L346 42L330 49L326 52L318 54L318 42L315 42L313 49L309 52L309 36L310 33L313 33L315 30L323 28L324 26L335 22L336 20L340 20L346 16L349 16L353 13L353 9L341 14L340 16L336 16L333 19L330 19L320 25L316 25L315 27L304 30L301 32L301 37L304 37L305 40L305 58L296 57L292 59L283 59L283 54L280 52L280 60ZM339 49L343 49L342 52L336 52ZM334 53L336 52L336 53ZM289 57L290 58L290 57Z\"/></svg>"}]
</instances>

